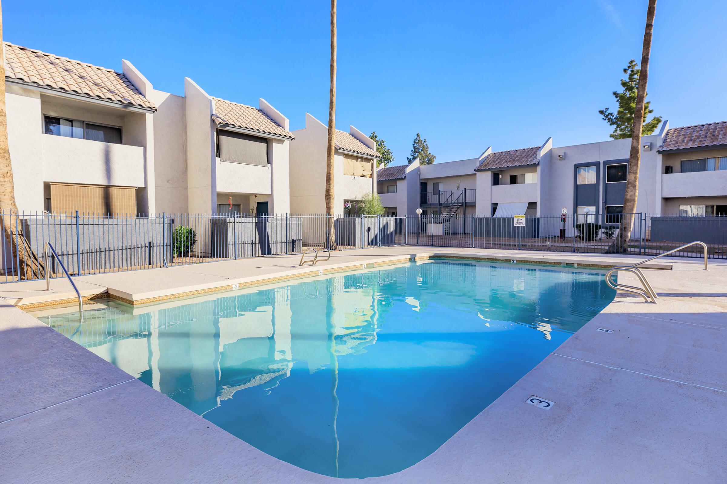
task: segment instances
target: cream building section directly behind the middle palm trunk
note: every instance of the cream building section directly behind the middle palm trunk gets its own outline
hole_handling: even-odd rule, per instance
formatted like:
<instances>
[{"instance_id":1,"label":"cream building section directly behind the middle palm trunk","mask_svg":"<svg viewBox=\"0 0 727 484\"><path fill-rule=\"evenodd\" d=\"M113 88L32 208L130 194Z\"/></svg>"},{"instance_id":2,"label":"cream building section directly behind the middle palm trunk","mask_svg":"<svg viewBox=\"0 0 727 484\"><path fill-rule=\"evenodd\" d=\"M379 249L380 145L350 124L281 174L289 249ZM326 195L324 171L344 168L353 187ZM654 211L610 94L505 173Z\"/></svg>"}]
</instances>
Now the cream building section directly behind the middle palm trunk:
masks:
<instances>
[{"instance_id":1,"label":"cream building section directly behind the middle palm trunk","mask_svg":"<svg viewBox=\"0 0 727 484\"><path fill-rule=\"evenodd\" d=\"M326 213L326 147L328 127L305 113L305 128L293 131L290 143L290 210ZM375 193L376 143L353 126L334 135L334 213L348 213L346 202Z\"/></svg>"}]
</instances>

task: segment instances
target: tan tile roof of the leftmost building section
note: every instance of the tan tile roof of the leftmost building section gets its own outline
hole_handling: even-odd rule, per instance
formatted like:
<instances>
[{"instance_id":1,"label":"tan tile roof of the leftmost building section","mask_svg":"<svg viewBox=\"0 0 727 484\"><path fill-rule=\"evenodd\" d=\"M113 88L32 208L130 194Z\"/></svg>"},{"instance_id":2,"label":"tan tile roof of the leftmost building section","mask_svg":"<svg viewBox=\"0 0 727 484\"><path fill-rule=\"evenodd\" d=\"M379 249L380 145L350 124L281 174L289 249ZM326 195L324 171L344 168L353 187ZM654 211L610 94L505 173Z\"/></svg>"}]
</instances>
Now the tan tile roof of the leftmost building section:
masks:
<instances>
[{"instance_id":1,"label":"tan tile roof of the leftmost building section","mask_svg":"<svg viewBox=\"0 0 727 484\"><path fill-rule=\"evenodd\" d=\"M124 74L4 42L5 77L36 86L156 110Z\"/></svg>"}]
</instances>

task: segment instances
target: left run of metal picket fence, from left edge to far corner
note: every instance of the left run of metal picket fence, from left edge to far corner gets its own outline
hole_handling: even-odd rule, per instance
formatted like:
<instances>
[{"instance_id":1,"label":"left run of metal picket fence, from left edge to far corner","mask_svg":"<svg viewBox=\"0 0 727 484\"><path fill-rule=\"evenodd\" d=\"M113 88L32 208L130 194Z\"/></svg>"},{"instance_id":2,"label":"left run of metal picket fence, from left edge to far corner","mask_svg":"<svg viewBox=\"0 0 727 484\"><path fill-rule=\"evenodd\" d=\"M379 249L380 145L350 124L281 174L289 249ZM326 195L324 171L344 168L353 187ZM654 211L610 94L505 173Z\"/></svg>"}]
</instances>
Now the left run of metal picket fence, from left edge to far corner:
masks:
<instances>
[{"instance_id":1,"label":"left run of metal picket fence, from left edge to far corner","mask_svg":"<svg viewBox=\"0 0 727 484\"><path fill-rule=\"evenodd\" d=\"M405 238L403 218L385 216L19 213L0 214L0 225L5 234L0 282L41 279L46 268L60 276L57 261L46 260L47 242L69 273L80 275L295 254L308 247L382 247ZM12 250L11 240L20 250ZM41 270L27 270L23 247L37 255Z\"/></svg>"}]
</instances>

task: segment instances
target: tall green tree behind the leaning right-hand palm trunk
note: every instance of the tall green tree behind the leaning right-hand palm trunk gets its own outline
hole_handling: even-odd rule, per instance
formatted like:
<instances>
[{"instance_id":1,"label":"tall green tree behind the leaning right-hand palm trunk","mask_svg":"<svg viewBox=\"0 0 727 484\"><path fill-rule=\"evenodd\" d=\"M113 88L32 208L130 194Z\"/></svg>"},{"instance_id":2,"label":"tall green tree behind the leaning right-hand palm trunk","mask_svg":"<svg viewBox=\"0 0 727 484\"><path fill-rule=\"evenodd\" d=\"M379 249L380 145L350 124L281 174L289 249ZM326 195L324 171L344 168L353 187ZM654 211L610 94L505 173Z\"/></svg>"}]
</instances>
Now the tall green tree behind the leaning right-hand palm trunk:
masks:
<instances>
[{"instance_id":1,"label":"tall green tree behind the leaning right-hand palm trunk","mask_svg":"<svg viewBox=\"0 0 727 484\"><path fill-rule=\"evenodd\" d=\"M643 61L641 65L643 66ZM648 68L648 65L646 68ZM635 60L632 59L629 61L629 65L624 69L624 74L627 74L627 78L621 80L621 87L624 90L622 92L614 91L614 97L619 104L619 109L616 112L611 112L606 107L605 110L598 111L598 114L603 116L603 120L606 123L614 126L614 132L609 135L613 139L630 138L634 123L634 112L636 110L636 98L638 97L638 83L640 78L640 70ZM644 97L646 95L644 93ZM651 121L646 122L648 115L654 112L649 107L650 104L651 102L646 102L643 107L643 126L641 131L644 136L654 133L656 128L659 127L659 123L662 122L661 116L654 116L654 118L651 118Z\"/></svg>"}]
</instances>

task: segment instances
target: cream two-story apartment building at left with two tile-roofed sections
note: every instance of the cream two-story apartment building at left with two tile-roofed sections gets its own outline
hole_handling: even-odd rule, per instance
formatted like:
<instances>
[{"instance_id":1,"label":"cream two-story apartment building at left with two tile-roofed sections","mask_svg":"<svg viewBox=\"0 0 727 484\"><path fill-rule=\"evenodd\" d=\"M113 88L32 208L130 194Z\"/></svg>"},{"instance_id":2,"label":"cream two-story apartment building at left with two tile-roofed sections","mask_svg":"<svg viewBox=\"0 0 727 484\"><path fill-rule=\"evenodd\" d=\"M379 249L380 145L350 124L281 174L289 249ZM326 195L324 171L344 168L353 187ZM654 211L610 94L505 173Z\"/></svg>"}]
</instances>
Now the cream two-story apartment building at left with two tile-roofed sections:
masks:
<instances>
[{"instance_id":1,"label":"cream two-story apartment building at left with two tile-roofed sections","mask_svg":"<svg viewBox=\"0 0 727 484\"><path fill-rule=\"evenodd\" d=\"M18 209L38 213L288 213L289 120L121 72L4 44Z\"/></svg>"}]
</instances>

